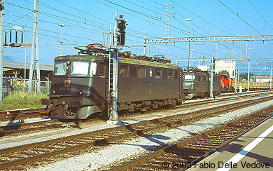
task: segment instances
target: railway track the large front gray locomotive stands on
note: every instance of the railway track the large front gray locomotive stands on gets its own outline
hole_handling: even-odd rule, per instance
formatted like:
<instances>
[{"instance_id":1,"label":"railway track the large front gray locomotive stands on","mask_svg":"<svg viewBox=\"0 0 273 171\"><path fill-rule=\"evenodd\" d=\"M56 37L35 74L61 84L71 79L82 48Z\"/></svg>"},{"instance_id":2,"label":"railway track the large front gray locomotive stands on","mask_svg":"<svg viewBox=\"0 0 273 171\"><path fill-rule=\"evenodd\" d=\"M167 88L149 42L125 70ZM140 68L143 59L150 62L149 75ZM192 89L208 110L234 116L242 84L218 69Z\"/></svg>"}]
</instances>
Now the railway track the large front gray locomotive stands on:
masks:
<instances>
[{"instance_id":1,"label":"railway track the large front gray locomotive stands on","mask_svg":"<svg viewBox=\"0 0 273 171\"><path fill-rule=\"evenodd\" d=\"M259 97L265 94L268 94L268 92L255 94L255 95L244 95L240 97L228 97L228 98L223 98L218 100L188 102L186 104L182 104L181 107L176 107L176 108L193 107L193 106L198 106L202 104L214 104L214 103L223 102L223 101L227 102L229 100L236 100L239 98L246 98L246 97ZM93 120L96 120L96 119L93 119ZM62 120L52 120L52 121L39 121L39 122L33 122L33 123L13 123L12 125L8 124L8 125L0 126L0 137L4 137L6 135L22 134L24 132L34 132L34 131L41 131L41 130L43 131L43 130L48 130L52 128L64 128L64 127L69 127L73 125L79 125L81 123L91 123L93 120L90 119L85 122L83 121L64 122L65 120L62 119Z\"/></svg>"}]
</instances>

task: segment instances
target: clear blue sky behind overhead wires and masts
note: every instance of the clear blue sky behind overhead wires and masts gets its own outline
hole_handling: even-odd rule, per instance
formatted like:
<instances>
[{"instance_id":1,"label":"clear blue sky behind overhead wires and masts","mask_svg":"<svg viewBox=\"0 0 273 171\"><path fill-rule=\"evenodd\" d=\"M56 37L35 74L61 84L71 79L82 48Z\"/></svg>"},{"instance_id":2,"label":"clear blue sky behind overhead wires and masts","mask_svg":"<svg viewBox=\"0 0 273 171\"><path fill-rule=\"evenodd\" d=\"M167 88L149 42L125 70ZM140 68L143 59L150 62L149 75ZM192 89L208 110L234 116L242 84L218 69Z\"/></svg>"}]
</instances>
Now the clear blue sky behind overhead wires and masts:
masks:
<instances>
[{"instance_id":1,"label":"clear blue sky behind overhead wires and masts","mask_svg":"<svg viewBox=\"0 0 273 171\"><path fill-rule=\"evenodd\" d=\"M31 43L34 0L6 0L5 27L25 29L25 43ZM273 1L270 0L207 0L207 1L160 1L160 0L47 0L39 6L40 62L53 64L59 55L60 32L63 27L63 55L73 55L73 46L87 46L88 43L103 43L103 32L109 32L114 22L114 13L123 14L127 20L126 45L143 45L147 38L165 36L166 6L169 6L169 33L171 37L187 37L191 18L191 36L251 36L273 35ZM13 36L14 38L14 36ZM9 40L9 38L8 38ZM54 46L52 46L52 44ZM218 44L218 57L241 58L245 56L245 41L221 42ZM273 59L273 41L250 41L252 59ZM216 57L216 43L191 43L192 58ZM3 55L18 62L30 60L31 48L6 48ZM143 48L124 48L132 53L143 54ZM153 45L148 44L147 55L153 55ZM172 59L188 59L188 43L155 45L155 55L165 55ZM4 59L5 60L5 59ZM209 62L207 62L209 64ZM188 62L180 62L187 67ZM198 62L191 62L195 67ZM251 61L251 67L270 67L272 61ZM237 62L246 67L247 62ZM239 69L246 71L246 69ZM258 74L260 69L252 69ZM266 71L269 71L268 69ZM268 74L264 73L264 74Z\"/></svg>"}]
</instances>

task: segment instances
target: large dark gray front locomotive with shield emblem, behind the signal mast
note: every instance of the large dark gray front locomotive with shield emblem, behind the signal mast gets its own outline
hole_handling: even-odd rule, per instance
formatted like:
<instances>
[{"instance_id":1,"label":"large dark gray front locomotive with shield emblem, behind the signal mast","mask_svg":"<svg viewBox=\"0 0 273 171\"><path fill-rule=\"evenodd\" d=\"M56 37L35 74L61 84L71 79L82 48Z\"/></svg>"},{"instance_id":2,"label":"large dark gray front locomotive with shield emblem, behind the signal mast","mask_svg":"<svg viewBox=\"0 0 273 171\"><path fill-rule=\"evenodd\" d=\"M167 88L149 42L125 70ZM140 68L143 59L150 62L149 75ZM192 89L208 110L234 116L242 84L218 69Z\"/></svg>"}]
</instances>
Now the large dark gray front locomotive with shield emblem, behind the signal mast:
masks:
<instances>
[{"instance_id":1,"label":"large dark gray front locomotive with shield emblem, behind the signal mast","mask_svg":"<svg viewBox=\"0 0 273 171\"><path fill-rule=\"evenodd\" d=\"M108 109L107 53L55 57L49 99L51 116L85 119ZM175 106L183 101L182 69L174 64L119 54L118 110L136 111ZM140 57L141 58L141 57Z\"/></svg>"}]
</instances>

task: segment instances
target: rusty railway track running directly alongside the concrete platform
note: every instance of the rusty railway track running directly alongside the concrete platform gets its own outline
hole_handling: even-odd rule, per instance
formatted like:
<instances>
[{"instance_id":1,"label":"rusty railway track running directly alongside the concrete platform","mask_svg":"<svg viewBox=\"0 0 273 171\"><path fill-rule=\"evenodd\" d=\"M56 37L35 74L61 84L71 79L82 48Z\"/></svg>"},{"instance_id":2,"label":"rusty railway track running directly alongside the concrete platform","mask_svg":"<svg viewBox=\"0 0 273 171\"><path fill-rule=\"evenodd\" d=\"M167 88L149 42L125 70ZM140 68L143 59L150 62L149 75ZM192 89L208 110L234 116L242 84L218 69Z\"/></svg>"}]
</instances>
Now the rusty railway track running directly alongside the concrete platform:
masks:
<instances>
[{"instance_id":1,"label":"rusty railway track running directly alongside the concrete platform","mask_svg":"<svg viewBox=\"0 0 273 171\"><path fill-rule=\"evenodd\" d=\"M273 105L111 170L186 170L272 116Z\"/></svg>"}]
</instances>

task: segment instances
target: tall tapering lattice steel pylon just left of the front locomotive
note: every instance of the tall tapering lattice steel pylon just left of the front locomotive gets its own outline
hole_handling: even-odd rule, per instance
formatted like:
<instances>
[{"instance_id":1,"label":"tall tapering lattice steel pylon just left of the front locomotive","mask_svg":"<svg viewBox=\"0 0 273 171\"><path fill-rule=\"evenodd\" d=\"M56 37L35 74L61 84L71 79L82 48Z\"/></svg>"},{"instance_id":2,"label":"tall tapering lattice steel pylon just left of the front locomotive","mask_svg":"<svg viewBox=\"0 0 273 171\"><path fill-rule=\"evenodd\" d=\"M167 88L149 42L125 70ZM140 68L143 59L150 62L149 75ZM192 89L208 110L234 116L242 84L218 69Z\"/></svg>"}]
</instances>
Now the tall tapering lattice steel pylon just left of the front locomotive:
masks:
<instances>
[{"instance_id":1,"label":"tall tapering lattice steel pylon just left of the front locomotive","mask_svg":"<svg viewBox=\"0 0 273 171\"><path fill-rule=\"evenodd\" d=\"M31 93L32 91L41 93L38 41L38 3L39 0L34 0L34 25L32 32L31 58L29 68L29 93ZM32 88L33 85L34 88Z\"/></svg>"}]
</instances>

